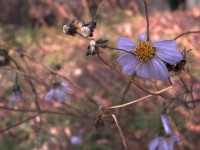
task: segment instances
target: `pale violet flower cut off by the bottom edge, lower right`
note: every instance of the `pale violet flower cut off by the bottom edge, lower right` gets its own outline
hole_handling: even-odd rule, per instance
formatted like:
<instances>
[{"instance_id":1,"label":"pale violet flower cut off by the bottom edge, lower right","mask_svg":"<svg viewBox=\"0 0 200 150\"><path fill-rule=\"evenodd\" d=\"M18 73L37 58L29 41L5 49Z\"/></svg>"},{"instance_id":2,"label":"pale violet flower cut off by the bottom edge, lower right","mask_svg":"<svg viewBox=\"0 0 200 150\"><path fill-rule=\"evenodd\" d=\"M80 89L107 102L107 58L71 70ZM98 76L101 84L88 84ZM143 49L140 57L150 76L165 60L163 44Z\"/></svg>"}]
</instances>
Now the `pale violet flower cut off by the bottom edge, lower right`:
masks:
<instances>
[{"instance_id":1,"label":"pale violet flower cut off by the bottom edge, lower right","mask_svg":"<svg viewBox=\"0 0 200 150\"><path fill-rule=\"evenodd\" d=\"M149 144L149 150L174 150L175 142L180 142L176 135L172 135L168 141L163 137L155 137Z\"/></svg>"}]
</instances>

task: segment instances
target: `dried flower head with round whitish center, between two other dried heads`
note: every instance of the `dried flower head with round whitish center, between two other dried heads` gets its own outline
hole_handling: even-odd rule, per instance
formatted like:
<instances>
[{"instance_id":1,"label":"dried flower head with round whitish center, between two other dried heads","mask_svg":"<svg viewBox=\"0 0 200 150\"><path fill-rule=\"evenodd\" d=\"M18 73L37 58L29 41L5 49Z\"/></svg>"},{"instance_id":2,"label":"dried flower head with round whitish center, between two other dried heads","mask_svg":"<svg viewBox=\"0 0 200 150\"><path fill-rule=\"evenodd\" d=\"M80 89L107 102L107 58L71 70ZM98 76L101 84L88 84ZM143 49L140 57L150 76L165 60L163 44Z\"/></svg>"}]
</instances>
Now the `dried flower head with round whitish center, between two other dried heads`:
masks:
<instances>
[{"instance_id":1,"label":"dried flower head with round whitish center, between two other dried heads","mask_svg":"<svg viewBox=\"0 0 200 150\"><path fill-rule=\"evenodd\" d=\"M93 32L94 32L94 29L96 28L96 25L97 25L97 23L94 19L92 19L90 22L88 22L86 24L83 24L82 28L81 28L82 36L93 37Z\"/></svg>"}]
</instances>

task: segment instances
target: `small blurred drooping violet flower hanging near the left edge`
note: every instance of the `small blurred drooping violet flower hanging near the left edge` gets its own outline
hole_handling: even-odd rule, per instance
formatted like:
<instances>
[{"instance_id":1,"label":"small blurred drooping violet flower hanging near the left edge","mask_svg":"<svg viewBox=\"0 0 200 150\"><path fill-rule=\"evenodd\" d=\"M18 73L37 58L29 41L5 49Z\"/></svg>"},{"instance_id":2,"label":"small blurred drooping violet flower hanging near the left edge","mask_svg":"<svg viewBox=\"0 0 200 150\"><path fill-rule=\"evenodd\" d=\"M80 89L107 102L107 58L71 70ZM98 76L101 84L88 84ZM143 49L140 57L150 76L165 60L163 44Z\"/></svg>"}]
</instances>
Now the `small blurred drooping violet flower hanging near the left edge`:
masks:
<instances>
[{"instance_id":1,"label":"small blurred drooping violet flower hanging near the left edge","mask_svg":"<svg viewBox=\"0 0 200 150\"><path fill-rule=\"evenodd\" d=\"M15 85L13 87L10 100L13 102L19 102L24 100L23 93L18 85Z\"/></svg>"}]
</instances>

